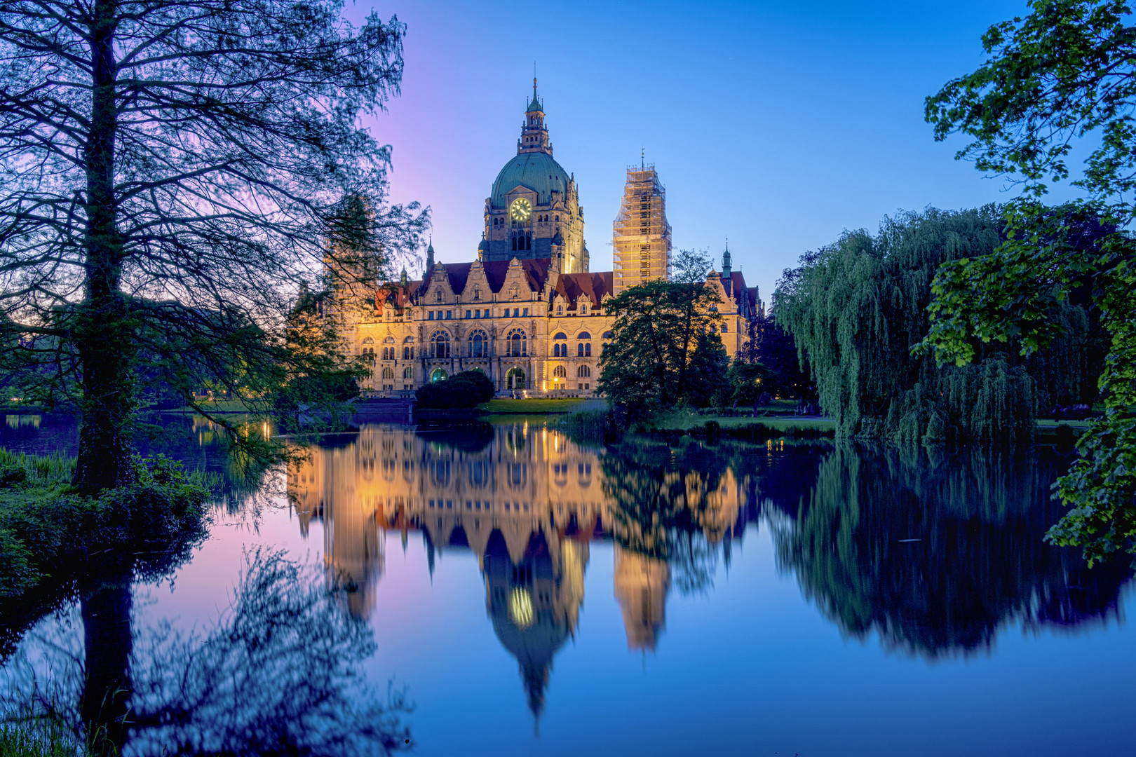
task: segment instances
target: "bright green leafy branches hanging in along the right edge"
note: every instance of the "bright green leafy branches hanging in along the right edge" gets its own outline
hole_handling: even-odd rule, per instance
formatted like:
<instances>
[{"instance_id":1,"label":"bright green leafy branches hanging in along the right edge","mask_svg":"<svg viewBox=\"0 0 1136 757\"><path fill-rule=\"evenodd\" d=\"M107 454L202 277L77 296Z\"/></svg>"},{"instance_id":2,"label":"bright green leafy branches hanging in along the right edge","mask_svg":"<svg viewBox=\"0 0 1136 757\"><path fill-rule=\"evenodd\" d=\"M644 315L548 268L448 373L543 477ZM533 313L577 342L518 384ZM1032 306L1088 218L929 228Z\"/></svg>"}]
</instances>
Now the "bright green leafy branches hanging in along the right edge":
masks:
<instances>
[{"instance_id":1,"label":"bright green leafy branches hanging in along the right edge","mask_svg":"<svg viewBox=\"0 0 1136 757\"><path fill-rule=\"evenodd\" d=\"M1120 0L1033 0L1031 12L992 26L988 56L927 99L935 138L972 137L958 157L1020 182L1009 233L993 254L960 260L935 281L926 346L944 362L975 359L975 344L1011 342L1022 354L1067 333L1054 301L1089 297L1108 335L1099 389L1104 417L1080 438L1081 459L1058 482L1070 511L1055 544L1081 545L1089 563L1136 554L1136 26ZM1091 137L1091 138L1086 138ZM1070 176L1086 194L1055 212L1037 199Z\"/></svg>"}]
</instances>

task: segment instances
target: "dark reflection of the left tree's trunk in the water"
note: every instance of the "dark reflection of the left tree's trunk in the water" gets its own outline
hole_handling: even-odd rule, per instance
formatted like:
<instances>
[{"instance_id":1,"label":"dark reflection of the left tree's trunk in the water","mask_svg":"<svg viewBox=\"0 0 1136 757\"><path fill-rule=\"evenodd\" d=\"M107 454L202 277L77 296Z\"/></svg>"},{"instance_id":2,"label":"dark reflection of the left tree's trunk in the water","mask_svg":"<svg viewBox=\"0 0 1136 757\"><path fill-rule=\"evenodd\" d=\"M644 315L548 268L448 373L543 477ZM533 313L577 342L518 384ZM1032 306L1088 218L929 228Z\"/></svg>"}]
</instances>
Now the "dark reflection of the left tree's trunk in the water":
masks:
<instances>
[{"instance_id":1,"label":"dark reflection of the left tree's trunk in the water","mask_svg":"<svg viewBox=\"0 0 1136 757\"><path fill-rule=\"evenodd\" d=\"M119 755L130 726L132 692L130 575L83 600L86 678L82 717L92 755Z\"/></svg>"}]
</instances>

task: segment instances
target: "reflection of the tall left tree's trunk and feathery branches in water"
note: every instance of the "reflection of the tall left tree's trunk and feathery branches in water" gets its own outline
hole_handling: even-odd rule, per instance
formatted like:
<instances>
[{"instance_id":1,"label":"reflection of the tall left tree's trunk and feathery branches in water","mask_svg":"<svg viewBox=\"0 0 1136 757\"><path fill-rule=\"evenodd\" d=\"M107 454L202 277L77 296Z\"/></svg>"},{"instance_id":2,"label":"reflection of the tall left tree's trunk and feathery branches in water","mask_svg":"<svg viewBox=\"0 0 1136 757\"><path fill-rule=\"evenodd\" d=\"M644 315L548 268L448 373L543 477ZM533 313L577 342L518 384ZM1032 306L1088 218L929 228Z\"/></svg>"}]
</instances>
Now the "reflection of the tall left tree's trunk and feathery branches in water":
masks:
<instances>
[{"instance_id":1,"label":"reflection of the tall left tree's trunk and feathery branches in water","mask_svg":"<svg viewBox=\"0 0 1136 757\"><path fill-rule=\"evenodd\" d=\"M368 689L359 671L374 634L336 595L315 569L258 549L210 632L166 622L139 633L130 583L115 583L83 600L85 659L75 640L39 639L42 659L8 666L7 710L67 723L99 755L409 748L411 707L402 691Z\"/></svg>"}]
</instances>

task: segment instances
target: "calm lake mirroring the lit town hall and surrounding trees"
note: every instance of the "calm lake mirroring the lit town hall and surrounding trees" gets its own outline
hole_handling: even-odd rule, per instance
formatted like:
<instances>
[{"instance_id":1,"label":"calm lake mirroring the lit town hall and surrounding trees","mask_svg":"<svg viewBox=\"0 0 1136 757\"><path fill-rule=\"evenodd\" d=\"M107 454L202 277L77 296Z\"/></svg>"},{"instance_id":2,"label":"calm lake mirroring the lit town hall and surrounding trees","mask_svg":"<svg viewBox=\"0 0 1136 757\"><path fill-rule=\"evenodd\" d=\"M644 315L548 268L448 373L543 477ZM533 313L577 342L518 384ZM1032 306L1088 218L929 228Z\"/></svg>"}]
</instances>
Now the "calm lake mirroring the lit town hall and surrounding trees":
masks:
<instances>
[{"instance_id":1,"label":"calm lake mirroring the lit town hall and surrounding trees","mask_svg":"<svg viewBox=\"0 0 1136 757\"><path fill-rule=\"evenodd\" d=\"M117 647L65 604L0 678L77 712L84 657L127 649L126 754L1136 754L1131 571L1043 544L1046 447L365 426L249 491L206 421L165 431L224 481L208 538L135 578ZM9 415L0 445L73 432Z\"/></svg>"}]
</instances>

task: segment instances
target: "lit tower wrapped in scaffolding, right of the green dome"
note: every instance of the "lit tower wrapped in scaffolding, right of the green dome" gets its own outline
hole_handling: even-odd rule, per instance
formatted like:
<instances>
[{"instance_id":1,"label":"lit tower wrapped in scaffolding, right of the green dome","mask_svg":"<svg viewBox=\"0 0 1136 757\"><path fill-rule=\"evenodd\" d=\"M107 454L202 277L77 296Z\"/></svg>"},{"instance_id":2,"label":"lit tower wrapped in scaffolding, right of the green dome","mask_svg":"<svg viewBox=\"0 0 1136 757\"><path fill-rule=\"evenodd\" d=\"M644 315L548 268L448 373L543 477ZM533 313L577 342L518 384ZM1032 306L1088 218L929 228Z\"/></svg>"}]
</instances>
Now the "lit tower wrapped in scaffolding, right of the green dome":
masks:
<instances>
[{"instance_id":1,"label":"lit tower wrapped in scaffolding, right of the green dome","mask_svg":"<svg viewBox=\"0 0 1136 757\"><path fill-rule=\"evenodd\" d=\"M615 294L652 279L670 280L667 191L653 163L627 169L624 202L612 226Z\"/></svg>"}]
</instances>

